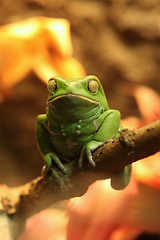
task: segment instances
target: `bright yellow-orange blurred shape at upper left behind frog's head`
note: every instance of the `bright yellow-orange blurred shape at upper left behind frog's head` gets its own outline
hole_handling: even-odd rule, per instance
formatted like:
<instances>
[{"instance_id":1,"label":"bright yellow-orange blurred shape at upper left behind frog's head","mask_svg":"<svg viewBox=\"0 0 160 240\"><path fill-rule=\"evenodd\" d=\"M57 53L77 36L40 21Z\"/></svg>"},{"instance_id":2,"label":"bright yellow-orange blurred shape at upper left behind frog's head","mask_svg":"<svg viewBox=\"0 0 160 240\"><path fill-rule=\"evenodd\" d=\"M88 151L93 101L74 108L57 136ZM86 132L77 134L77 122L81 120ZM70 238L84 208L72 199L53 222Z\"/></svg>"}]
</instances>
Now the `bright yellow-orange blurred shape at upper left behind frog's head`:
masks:
<instances>
[{"instance_id":1,"label":"bright yellow-orange blurred shape at upper left behind frog's head","mask_svg":"<svg viewBox=\"0 0 160 240\"><path fill-rule=\"evenodd\" d=\"M53 75L83 77L72 57L70 24L65 19L35 17L0 27L0 87L5 91L30 71L47 82Z\"/></svg>"}]
</instances>

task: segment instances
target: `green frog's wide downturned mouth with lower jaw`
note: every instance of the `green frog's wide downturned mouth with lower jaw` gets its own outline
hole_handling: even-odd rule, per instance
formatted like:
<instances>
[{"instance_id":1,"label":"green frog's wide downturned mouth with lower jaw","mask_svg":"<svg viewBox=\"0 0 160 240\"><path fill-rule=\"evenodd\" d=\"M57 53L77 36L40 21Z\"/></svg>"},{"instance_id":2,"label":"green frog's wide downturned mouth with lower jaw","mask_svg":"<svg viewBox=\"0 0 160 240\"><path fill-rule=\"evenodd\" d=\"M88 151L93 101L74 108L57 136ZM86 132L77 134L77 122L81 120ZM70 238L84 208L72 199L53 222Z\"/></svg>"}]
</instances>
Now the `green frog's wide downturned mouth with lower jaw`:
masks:
<instances>
[{"instance_id":1,"label":"green frog's wide downturned mouth with lower jaw","mask_svg":"<svg viewBox=\"0 0 160 240\"><path fill-rule=\"evenodd\" d=\"M48 99L48 110L56 117L65 116L68 120L84 119L97 115L100 103L94 99L76 94L64 94Z\"/></svg>"}]
</instances>

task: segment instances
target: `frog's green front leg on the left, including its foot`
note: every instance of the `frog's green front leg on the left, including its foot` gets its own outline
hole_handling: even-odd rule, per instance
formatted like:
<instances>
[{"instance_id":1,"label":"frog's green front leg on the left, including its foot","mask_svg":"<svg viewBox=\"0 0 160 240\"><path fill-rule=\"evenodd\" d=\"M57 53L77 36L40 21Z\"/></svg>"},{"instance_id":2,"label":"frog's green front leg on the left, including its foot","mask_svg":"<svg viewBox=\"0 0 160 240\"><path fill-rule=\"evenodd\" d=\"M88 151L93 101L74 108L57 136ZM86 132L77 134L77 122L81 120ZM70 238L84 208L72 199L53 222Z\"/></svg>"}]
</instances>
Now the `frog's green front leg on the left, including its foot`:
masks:
<instances>
[{"instance_id":1,"label":"frog's green front leg on the left, including its foot","mask_svg":"<svg viewBox=\"0 0 160 240\"><path fill-rule=\"evenodd\" d=\"M37 117L37 143L40 149L40 152L43 155L45 161L45 168L43 173L48 172L48 170L52 167L53 163L63 172L66 173L66 169L62 164L61 160L57 156L57 154L53 151L53 147L49 138L49 131L45 127L47 118L45 114L41 114Z\"/></svg>"}]
</instances>

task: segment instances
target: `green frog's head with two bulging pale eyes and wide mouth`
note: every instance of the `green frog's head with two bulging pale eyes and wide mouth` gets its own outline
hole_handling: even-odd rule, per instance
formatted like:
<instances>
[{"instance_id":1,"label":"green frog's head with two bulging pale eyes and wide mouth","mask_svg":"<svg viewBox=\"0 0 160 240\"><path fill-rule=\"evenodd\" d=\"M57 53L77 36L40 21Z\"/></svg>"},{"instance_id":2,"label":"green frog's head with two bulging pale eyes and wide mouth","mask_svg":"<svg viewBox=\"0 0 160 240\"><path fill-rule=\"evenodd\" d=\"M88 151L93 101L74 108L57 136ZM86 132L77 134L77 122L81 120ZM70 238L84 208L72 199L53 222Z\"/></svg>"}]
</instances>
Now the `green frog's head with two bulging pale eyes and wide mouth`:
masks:
<instances>
[{"instance_id":1,"label":"green frog's head with two bulging pale eyes and wide mouth","mask_svg":"<svg viewBox=\"0 0 160 240\"><path fill-rule=\"evenodd\" d=\"M96 76L89 75L81 79L52 77L47 88L48 108L54 110L56 116L63 111L63 114L72 117L81 115L81 118L85 118L96 114L96 111L108 109L103 87Z\"/></svg>"}]
</instances>

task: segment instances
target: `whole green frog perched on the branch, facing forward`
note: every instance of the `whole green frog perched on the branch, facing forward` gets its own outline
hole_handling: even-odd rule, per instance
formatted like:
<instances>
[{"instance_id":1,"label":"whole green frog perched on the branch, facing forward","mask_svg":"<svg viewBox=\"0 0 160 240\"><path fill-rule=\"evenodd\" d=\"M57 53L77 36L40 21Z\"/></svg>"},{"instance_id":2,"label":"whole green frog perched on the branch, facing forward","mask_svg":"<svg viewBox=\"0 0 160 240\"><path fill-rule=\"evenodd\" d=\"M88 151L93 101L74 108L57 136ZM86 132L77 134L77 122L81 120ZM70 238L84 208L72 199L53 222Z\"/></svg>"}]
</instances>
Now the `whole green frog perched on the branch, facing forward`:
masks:
<instances>
[{"instance_id":1,"label":"whole green frog perched on the branch, facing forward","mask_svg":"<svg viewBox=\"0 0 160 240\"><path fill-rule=\"evenodd\" d=\"M109 109L102 85L93 75L81 79L54 77L48 89L47 112L37 117L37 142L45 172L56 164L65 173L65 162L75 159L81 167L84 155L95 167L92 151L119 137L120 112ZM127 166L113 174L112 186L124 188L130 173Z\"/></svg>"}]
</instances>

